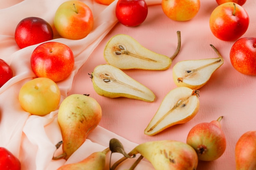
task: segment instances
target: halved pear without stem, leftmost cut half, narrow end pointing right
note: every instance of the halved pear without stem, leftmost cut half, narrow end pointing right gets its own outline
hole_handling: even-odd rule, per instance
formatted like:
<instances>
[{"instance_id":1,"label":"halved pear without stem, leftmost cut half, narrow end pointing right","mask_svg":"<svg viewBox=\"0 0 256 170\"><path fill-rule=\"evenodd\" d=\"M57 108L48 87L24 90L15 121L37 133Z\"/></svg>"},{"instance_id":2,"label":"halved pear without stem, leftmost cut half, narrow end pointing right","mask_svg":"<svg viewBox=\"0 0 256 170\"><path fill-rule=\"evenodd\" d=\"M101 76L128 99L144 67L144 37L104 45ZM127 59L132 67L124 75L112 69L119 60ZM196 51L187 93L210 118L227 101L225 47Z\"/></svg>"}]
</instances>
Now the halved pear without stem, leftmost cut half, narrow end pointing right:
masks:
<instances>
[{"instance_id":1,"label":"halved pear without stem, leftmost cut half, narrow end pointing right","mask_svg":"<svg viewBox=\"0 0 256 170\"><path fill-rule=\"evenodd\" d=\"M146 102L155 100L155 94L149 88L110 64L96 66L91 78L94 90L101 96L127 97Z\"/></svg>"}]
</instances>

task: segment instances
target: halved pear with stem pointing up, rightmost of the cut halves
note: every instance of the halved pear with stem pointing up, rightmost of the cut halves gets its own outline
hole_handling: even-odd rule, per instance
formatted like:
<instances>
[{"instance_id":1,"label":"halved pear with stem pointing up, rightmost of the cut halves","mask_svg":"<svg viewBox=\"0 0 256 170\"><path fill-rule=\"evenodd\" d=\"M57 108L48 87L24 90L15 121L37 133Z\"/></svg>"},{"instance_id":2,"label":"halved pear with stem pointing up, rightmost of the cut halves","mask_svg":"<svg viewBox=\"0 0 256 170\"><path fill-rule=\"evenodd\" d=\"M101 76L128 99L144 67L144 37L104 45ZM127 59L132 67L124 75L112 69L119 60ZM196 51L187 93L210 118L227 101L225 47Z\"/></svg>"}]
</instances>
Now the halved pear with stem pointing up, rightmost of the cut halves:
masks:
<instances>
[{"instance_id":1,"label":"halved pear with stem pointing up, rightmost of the cut halves","mask_svg":"<svg viewBox=\"0 0 256 170\"><path fill-rule=\"evenodd\" d=\"M224 63L218 50L211 44L218 58L185 60L173 66L173 80L177 86L199 89L210 79L211 75Z\"/></svg>"}]
</instances>

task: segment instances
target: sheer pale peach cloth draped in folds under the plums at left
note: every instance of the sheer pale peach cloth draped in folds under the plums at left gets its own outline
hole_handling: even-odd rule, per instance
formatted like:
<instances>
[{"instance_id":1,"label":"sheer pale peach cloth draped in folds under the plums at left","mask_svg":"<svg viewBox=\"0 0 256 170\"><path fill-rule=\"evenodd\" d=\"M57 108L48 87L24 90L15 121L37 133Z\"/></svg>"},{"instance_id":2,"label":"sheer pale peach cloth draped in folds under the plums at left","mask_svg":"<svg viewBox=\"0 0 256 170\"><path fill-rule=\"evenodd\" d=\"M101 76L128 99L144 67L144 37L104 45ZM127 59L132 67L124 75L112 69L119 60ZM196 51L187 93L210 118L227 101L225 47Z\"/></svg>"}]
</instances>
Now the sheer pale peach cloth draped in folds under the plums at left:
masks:
<instances>
[{"instance_id":1,"label":"sheer pale peach cloth draped in folds under the plums at left","mask_svg":"<svg viewBox=\"0 0 256 170\"><path fill-rule=\"evenodd\" d=\"M45 19L53 26L54 13L64 1L0 0L0 58L10 64L13 70L13 78L0 88L0 146L7 148L20 159L22 170L56 170L65 163L80 161L92 152L105 149L111 138L122 141L127 151L137 145L98 126L70 159L53 161L52 156L56 150L55 144L61 140L61 132L56 117L58 110L40 117L30 115L20 107L18 102L20 87L35 77L30 66L30 55L38 44L19 49L14 39L16 25L23 18L36 16ZM117 23L115 17L116 2L109 6L97 4L93 0L83 0L83 2L91 8L94 14L92 32L81 40L58 38L56 34L55 39L52 40L70 46L75 56L72 74L64 81L57 83L61 90L61 101L71 89L72 80L78 69ZM149 0L147 3L148 5L158 4L160 1ZM118 154L117 156L113 155L112 162L117 160L119 156ZM108 166L107 161L106 169ZM142 166L142 169L152 169L151 164L147 161L142 161L139 166Z\"/></svg>"}]
</instances>

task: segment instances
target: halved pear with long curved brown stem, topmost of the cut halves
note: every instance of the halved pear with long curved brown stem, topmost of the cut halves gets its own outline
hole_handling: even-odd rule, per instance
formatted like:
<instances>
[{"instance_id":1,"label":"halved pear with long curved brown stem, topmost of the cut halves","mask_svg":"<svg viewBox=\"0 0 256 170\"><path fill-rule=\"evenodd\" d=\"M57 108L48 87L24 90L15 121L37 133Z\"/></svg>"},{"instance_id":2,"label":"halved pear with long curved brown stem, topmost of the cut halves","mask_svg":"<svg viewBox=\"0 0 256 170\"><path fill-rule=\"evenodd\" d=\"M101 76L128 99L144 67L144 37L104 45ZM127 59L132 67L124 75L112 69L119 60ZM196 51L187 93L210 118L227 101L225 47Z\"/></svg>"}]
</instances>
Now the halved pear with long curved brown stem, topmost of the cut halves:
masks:
<instances>
[{"instance_id":1,"label":"halved pear with long curved brown stem, topmost of the cut halves","mask_svg":"<svg viewBox=\"0 0 256 170\"><path fill-rule=\"evenodd\" d=\"M167 57L146 49L129 35L117 34L107 42L104 58L108 64L120 69L166 70L180 51L180 31L177 36L177 49L172 57Z\"/></svg>"}]
</instances>

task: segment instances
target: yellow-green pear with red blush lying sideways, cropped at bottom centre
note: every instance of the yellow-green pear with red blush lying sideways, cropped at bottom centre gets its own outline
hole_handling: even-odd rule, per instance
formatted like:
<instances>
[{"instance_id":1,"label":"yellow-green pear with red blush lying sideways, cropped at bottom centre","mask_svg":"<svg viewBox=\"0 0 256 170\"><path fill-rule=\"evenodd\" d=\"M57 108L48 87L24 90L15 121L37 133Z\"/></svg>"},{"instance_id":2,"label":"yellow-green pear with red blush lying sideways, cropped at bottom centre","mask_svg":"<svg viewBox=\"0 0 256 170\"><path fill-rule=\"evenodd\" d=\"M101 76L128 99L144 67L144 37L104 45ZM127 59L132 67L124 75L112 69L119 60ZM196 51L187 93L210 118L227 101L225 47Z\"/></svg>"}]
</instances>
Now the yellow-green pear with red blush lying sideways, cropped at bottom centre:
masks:
<instances>
[{"instance_id":1,"label":"yellow-green pear with red blush lying sideways, cropped at bottom centre","mask_svg":"<svg viewBox=\"0 0 256 170\"><path fill-rule=\"evenodd\" d=\"M132 165L134 169L144 157L153 165L155 170L195 170L198 166L198 156L195 150L186 143L174 140L149 141L139 144L128 155L141 156ZM128 159L123 157L115 162L111 170Z\"/></svg>"}]
</instances>

